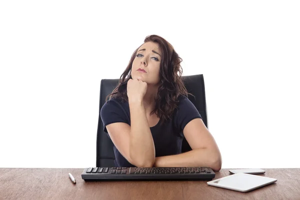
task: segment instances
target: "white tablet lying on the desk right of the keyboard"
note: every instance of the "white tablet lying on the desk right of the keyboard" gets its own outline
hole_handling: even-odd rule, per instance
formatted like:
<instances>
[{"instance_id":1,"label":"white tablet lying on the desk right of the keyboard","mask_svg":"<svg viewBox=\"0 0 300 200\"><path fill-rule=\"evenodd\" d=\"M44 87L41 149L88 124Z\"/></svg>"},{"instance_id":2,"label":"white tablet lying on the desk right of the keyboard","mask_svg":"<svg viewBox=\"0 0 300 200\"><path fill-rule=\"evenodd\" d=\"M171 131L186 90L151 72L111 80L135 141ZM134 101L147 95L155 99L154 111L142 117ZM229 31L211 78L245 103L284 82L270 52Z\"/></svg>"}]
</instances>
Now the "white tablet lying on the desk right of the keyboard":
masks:
<instances>
[{"instance_id":1,"label":"white tablet lying on the desk right of the keyboard","mask_svg":"<svg viewBox=\"0 0 300 200\"><path fill-rule=\"evenodd\" d=\"M207 184L225 189L247 192L258 187L276 182L277 179L248 173L235 173L208 181Z\"/></svg>"}]
</instances>

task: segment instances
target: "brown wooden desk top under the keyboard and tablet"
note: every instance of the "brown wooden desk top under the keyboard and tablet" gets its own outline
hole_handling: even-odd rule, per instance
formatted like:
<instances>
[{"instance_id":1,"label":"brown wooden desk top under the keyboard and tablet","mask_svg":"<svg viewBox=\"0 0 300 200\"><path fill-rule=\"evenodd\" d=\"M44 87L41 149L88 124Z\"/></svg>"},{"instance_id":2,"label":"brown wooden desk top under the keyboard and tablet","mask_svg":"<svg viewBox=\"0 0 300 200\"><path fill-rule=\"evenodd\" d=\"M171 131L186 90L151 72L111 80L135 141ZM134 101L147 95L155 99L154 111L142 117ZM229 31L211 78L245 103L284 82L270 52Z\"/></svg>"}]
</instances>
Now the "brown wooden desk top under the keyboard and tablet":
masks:
<instances>
[{"instance_id":1,"label":"brown wooden desk top under the keyboard and tablet","mask_svg":"<svg viewBox=\"0 0 300 200\"><path fill-rule=\"evenodd\" d=\"M0 168L0 199L300 199L300 168L264 170L277 181L244 193L205 180L85 182L83 168ZM229 174L221 169L214 179Z\"/></svg>"}]
</instances>

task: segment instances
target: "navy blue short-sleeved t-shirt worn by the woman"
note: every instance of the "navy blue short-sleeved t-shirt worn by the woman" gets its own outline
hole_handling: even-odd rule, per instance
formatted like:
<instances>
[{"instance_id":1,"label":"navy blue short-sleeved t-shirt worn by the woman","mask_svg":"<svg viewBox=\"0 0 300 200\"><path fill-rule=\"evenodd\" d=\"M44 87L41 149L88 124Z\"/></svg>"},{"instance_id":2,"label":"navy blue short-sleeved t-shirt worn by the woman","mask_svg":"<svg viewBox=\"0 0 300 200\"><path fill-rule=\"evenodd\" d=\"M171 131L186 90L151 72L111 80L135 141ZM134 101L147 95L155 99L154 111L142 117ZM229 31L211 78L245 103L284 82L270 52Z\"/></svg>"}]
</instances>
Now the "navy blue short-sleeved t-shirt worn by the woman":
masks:
<instances>
[{"instance_id":1,"label":"navy blue short-sleeved t-shirt worn by the woman","mask_svg":"<svg viewBox=\"0 0 300 200\"><path fill-rule=\"evenodd\" d=\"M196 107L186 96L178 97L178 107L174 110L171 119L161 124L150 127L155 146L155 156L174 155L181 153L181 144L184 126L194 118L202 118ZM106 125L114 122L124 122L130 125L130 111L127 101L121 102L118 98L112 98L104 103L100 110L104 131L107 133ZM119 134L122 134L120 131ZM109 134L107 133L108 137ZM109 137L110 138L110 137ZM116 167L134 166L113 145Z\"/></svg>"}]
</instances>

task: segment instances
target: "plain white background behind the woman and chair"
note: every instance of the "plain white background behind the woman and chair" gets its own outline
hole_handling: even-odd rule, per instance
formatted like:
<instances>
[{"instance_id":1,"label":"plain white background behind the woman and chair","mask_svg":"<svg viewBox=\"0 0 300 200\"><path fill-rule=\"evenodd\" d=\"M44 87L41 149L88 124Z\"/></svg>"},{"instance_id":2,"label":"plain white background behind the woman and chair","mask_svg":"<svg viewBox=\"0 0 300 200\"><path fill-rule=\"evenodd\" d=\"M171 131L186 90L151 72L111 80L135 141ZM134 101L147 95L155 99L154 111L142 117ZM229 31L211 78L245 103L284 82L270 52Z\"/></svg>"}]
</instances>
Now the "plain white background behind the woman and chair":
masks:
<instances>
[{"instance_id":1,"label":"plain white background behind the woman and chair","mask_svg":"<svg viewBox=\"0 0 300 200\"><path fill-rule=\"evenodd\" d=\"M0 1L0 167L95 166L100 80L149 34L203 74L222 168L300 167L299 5Z\"/></svg>"}]
</instances>

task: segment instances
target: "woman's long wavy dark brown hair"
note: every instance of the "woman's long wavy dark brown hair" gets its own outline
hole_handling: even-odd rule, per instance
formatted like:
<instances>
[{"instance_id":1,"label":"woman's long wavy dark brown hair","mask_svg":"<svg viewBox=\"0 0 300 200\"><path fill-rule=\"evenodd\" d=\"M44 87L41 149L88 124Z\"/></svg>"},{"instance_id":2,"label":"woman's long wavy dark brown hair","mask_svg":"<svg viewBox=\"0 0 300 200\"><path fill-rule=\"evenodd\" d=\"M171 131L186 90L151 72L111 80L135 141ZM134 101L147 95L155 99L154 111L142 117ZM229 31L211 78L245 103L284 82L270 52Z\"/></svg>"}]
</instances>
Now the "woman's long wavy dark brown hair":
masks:
<instances>
[{"instance_id":1,"label":"woman's long wavy dark brown hair","mask_svg":"<svg viewBox=\"0 0 300 200\"><path fill-rule=\"evenodd\" d=\"M158 86L155 97L155 107L150 114L155 113L163 122L171 118L174 109L177 108L178 97L180 95L187 96L190 93L187 92L181 79L182 67L180 62L182 59L178 56L173 46L164 38L155 34L146 36L144 43L148 41L157 43L161 52L159 68L161 84ZM120 98L122 102L128 101L127 81L131 78L132 62L139 47L134 50L126 69L120 76L118 85L106 96L106 101L111 98Z\"/></svg>"}]
</instances>

